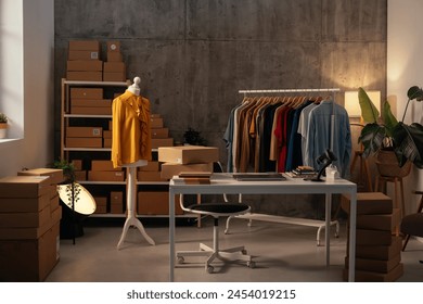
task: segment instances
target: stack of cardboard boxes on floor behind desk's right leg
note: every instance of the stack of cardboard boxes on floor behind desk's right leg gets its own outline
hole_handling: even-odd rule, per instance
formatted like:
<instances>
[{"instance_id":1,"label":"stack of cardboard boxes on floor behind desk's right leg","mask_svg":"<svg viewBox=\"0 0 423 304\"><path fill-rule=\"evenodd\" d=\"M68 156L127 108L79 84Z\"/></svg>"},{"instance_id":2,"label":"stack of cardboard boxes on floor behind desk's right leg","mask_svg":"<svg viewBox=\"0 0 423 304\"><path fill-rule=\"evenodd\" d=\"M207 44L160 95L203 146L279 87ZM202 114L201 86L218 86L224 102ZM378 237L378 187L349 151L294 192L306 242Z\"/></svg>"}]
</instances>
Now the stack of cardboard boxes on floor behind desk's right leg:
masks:
<instances>
[{"instance_id":1,"label":"stack of cardboard boxes on floor behind desk's right leg","mask_svg":"<svg viewBox=\"0 0 423 304\"><path fill-rule=\"evenodd\" d=\"M342 197L341 205L349 213L349 195ZM402 276L399 224L400 210L393 208L389 197L381 192L357 193L356 281L396 281ZM348 278L348 258L344 280Z\"/></svg>"}]
</instances>

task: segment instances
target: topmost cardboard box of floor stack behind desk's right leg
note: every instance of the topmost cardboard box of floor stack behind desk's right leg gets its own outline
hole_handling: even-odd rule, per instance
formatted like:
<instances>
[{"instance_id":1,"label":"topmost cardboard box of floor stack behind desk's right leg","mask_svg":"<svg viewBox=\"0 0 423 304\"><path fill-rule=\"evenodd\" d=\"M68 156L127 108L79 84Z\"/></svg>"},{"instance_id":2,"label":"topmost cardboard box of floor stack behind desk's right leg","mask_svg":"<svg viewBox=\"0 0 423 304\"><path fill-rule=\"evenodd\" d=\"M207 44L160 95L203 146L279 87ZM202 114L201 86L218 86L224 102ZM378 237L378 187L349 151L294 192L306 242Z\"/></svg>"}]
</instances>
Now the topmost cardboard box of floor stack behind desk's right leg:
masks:
<instances>
[{"instance_id":1,"label":"topmost cardboard box of floor stack behind desk's right leg","mask_svg":"<svg viewBox=\"0 0 423 304\"><path fill-rule=\"evenodd\" d=\"M349 194L341 197L341 207L349 213ZM390 214L393 213L393 200L382 192L357 193L357 215L359 214Z\"/></svg>"}]
</instances>

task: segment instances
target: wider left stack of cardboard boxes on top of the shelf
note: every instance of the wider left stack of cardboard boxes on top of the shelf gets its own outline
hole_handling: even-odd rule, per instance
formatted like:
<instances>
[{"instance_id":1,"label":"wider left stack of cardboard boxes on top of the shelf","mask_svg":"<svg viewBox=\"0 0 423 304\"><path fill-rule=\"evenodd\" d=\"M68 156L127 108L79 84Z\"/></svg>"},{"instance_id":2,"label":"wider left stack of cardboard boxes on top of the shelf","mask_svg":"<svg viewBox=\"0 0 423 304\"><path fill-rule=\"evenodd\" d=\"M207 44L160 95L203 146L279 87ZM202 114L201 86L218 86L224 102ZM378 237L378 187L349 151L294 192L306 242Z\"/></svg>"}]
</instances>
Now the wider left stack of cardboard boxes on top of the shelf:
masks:
<instances>
[{"instance_id":1,"label":"wider left stack of cardboard boxes on top of the shelf","mask_svg":"<svg viewBox=\"0 0 423 304\"><path fill-rule=\"evenodd\" d=\"M102 81L103 62L97 40L72 40L67 55L67 80Z\"/></svg>"}]
</instances>

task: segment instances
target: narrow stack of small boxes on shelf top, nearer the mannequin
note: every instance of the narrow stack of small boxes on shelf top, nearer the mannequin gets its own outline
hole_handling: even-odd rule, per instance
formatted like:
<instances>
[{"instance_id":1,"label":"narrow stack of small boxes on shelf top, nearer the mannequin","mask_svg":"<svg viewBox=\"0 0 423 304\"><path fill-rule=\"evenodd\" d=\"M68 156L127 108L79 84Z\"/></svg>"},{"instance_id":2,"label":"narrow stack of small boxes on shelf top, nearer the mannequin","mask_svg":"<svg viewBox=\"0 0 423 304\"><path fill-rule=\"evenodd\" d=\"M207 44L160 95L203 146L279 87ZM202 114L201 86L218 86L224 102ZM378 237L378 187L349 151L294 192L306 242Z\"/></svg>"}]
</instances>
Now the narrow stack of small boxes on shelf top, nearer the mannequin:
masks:
<instances>
[{"instance_id":1,"label":"narrow stack of small boxes on shelf top, nearer the mannequin","mask_svg":"<svg viewBox=\"0 0 423 304\"><path fill-rule=\"evenodd\" d=\"M103 66L103 81L125 81L126 66L120 52L119 41L107 41L106 58Z\"/></svg>"}]
</instances>

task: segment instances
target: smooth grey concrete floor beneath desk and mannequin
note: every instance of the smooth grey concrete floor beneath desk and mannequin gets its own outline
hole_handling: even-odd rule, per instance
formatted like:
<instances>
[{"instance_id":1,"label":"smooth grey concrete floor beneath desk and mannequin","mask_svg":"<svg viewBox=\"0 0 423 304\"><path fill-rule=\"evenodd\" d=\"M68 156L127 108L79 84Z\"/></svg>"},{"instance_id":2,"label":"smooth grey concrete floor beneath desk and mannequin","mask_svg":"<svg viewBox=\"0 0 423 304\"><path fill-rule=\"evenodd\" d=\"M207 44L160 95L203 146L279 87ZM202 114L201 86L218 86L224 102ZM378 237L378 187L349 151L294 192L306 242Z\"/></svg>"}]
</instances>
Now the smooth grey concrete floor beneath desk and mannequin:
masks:
<instances>
[{"instance_id":1,"label":"smooth grey concrete floor beneath desk and mannequin","mask_svg":"<svg viewBox=\"0 0 423 304\"><path fill-rule=\"evenodd\" d=\"M143 219L146 232L154 239L150 245L138 229L130 228L120 250L116 249L124 219L87 219L85 235L61 240L60 262L47 282L166 282L169 278L168 227L166 221ZM157 221L157 220L155 220ZM185 224L185 223L183 223ZM325 267L324 245L317 246L317 228L254 221L252 227L242 219L232 220L231 233L221 233L225 246L245 245L255 256L256 268L241 263L217 262L214 274L207 274L204 258L191 257L178 265L175 281L180 282L341 282L346 254L345 223L339 238L331 239L331 266ZM213 225L203 220L203 227L178 225L177 250L196 250L198 242L211 242ZM333 236L333 233L332 233ZM324 231L322 231L324 238ZM322 243L323 240L322 240ZM422 282L423 243L411 239L401 252L403 275L398 281Z\"/></svg>"}]
</instances>

